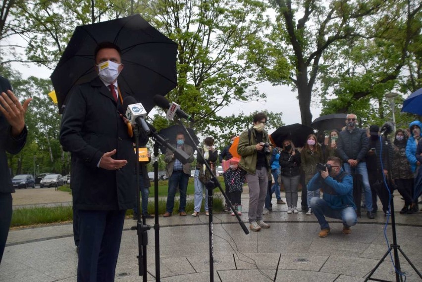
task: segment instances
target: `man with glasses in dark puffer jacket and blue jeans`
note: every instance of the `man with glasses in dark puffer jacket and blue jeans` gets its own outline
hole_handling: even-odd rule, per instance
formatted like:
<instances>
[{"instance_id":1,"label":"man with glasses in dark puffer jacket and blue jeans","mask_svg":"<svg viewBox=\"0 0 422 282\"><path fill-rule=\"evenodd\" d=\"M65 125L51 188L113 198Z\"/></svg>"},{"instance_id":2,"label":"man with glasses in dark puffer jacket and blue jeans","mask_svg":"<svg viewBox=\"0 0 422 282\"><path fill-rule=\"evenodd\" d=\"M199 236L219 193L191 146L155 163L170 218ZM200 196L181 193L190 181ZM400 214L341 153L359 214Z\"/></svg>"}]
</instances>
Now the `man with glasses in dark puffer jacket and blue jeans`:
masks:
<instances>
[{"instance_id":1,"label":"man with glasses in dark puffer jacket and blue jeans","mask_svg":"<svg viewBox=\"0 0 422 282\"><path fill-rule=\"evenodd\" d=\"M367 216L374 219L372 214L372 192L369 185L369 177L365 156L368 152L369 141L364 129L358 128L357 116L348 114L346 117L346 129L339 134L337 141L337 153L344 162L347 173L362 175L365 189L365 205L368 209Z\"/></svg>"}]
</instances>

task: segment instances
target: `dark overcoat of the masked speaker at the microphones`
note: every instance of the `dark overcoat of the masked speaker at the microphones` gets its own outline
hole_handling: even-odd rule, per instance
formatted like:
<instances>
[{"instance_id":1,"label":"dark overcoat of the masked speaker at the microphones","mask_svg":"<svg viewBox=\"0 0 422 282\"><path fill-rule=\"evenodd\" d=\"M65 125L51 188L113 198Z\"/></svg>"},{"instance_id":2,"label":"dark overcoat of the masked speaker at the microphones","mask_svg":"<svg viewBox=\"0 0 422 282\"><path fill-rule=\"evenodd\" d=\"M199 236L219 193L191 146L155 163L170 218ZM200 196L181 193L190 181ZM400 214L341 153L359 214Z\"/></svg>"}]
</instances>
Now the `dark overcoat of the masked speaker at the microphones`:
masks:
<instances>
[{"instance_id":1,"label":"dark overcoat of the masked speaker at the microphones","mask_svg":"<svg viewBox=\"0 0 422 282\"><path fill-rule=\"evenodd\" d=\"M121 90L123 98L128 94ZM120 103L118 99L117 103ZM76 86L63 113L60 143L72 153L73 206L82 210L125 210L135 207L136 155L133 139L117 112L106 85L96 78ZM104 153L127 160L120 170L97 167Z\"/></svg>"}]
</instances>

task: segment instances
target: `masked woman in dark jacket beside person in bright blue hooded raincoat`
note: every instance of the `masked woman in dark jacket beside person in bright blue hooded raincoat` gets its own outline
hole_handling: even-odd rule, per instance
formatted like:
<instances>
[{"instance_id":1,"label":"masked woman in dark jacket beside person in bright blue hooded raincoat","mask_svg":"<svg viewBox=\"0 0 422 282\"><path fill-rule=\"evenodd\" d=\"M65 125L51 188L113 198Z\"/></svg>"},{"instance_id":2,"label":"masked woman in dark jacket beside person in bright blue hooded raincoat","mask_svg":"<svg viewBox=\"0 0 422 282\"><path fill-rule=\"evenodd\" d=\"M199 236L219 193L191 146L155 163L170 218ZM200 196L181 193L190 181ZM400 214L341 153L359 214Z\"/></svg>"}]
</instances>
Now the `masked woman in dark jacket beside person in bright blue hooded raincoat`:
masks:
<instances>
[{"instance_id":1,"label":"masked woman in dark jacket beside person in bright blue hooded raincoat","mask_svg":"<svg viewBox=\"0 0 422 282\"><path fill-rule=\"evenodd\" d=\"M400 211L401 214L414 214L418 211L413 205L413 182L414 176L410 168L409 160L406 157L406 143L408 133L406 130L398 129L393 142L393 162L391 165L391 177L397 185L400 195L405 200L405 205Z\"/></svg>"}]
</instances>

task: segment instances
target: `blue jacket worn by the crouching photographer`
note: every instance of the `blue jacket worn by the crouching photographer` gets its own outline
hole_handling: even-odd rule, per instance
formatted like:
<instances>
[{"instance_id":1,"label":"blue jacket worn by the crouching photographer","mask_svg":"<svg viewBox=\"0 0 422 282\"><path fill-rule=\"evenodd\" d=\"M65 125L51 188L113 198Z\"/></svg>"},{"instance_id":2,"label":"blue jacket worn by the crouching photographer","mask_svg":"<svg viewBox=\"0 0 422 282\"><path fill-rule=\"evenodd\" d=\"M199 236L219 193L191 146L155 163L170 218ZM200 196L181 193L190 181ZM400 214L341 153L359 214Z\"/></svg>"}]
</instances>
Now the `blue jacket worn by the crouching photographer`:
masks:
<instances>
[{"instance_id":1,"label":"blue jacket worn by the crouching photographer","mask_svg":"<svg viewBox=\"0 0 422 282\"><path fill-rule=\"evenodd\" d=\"M323 193L322 199L324 199L328 206L334 210L344 209L346 207L353 207L356 209L355 202L353 200L353 177L350 174L347 174L343 177L341 182L338 182L338 176L343 172L343 169L340 169L340 173L337 177L332 178L327 176L325 179L321 177L321 174L318 172L308 183L308 191L315 191L319 188L322 188L324 183L332 187L338 195L331 195L328 193Z\"/></svg>"}]
</instances>

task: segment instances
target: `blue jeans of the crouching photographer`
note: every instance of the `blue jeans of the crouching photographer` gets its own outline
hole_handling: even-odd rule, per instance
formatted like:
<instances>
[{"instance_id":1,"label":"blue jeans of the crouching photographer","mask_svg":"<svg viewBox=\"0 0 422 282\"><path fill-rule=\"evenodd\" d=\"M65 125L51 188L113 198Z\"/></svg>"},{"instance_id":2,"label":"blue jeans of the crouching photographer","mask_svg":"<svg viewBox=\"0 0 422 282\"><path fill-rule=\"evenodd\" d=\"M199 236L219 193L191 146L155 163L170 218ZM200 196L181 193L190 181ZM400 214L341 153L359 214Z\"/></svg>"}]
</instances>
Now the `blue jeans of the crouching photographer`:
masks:
<instances>
[{"instance_id":1,"label":"blue jeans of the crouching photographer","mask_svg":"<svg viewBox=\"0 0 422 282\"><path fill-rule=\"evenodd\" d=\"M311 206L317 217L318 223L322 229L328 229L330 226L325 220L325 217L341 219L345 227L351 227L356 225L358 217L353 207L346 207L341 210L334 210L330 208L328 203L321 198L314 197L311 199Z\"/></svg>"}]
</instances>

